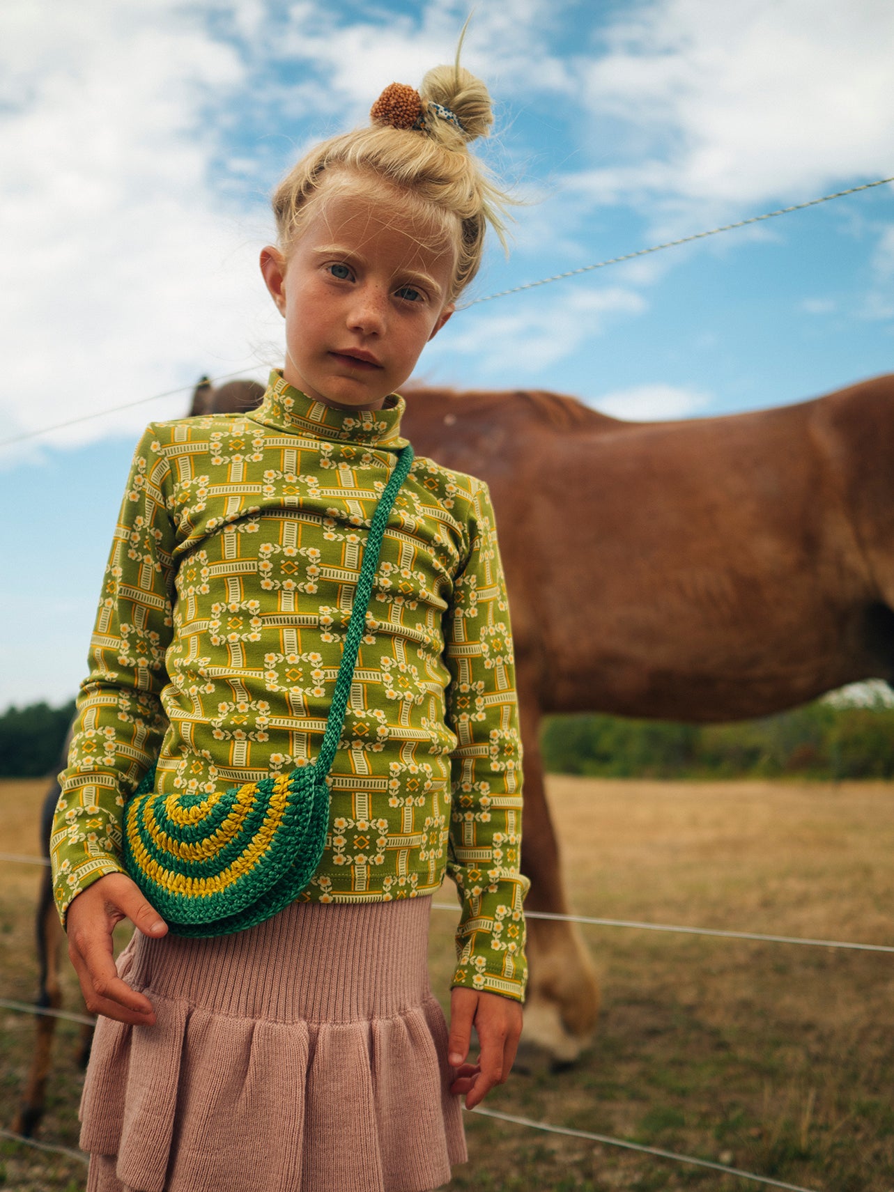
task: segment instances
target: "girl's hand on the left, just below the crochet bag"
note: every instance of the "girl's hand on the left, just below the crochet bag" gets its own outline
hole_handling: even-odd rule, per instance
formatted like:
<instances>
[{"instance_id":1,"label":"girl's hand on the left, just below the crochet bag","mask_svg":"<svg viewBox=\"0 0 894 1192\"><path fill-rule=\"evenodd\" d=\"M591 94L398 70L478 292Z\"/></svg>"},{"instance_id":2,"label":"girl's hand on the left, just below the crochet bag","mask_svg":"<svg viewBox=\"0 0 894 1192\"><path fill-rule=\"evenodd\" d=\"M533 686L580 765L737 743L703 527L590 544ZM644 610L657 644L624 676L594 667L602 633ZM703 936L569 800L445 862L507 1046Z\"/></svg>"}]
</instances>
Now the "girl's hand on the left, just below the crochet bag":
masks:
<instances>
[{"instance_id":1,"label":"girl's hand on the left, just below the crochet bag","mask_svg":"<svg viewBox=\"0 0 894 1192\"><path fill-rule=\"evenodd\" d=\"M114 967L112 932L122 919L130 919L153 939L168 930L135 881L126 874L106 874L79 894L68 908L68 955L92 1014L154 1026L153 1004L122 981Z\"/></svg>"}]
</instances>

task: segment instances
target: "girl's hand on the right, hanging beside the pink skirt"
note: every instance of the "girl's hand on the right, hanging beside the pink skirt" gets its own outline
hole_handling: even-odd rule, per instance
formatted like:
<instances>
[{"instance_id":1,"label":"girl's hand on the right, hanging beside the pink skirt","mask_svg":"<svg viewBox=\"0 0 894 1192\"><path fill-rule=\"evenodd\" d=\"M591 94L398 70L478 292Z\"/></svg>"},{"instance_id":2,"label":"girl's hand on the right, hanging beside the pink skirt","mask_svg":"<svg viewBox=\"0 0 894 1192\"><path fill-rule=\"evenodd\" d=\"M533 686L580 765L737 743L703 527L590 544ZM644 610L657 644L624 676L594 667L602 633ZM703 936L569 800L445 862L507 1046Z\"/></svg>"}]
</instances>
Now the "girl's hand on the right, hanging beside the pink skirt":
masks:
<instances>
[{"instance_id":1,"label":"girl's hand on the right, hanging beside the pink skirt","mask_svg":"<svg viewBox=\"0 0 894 1192\"><path fill-rule=\"evenodd\" d=\"M478 1063L466 1063L472 1026L478 1033ZM452 1093L466 1094L466 1109L483 1101L495 1085L509 1075L522 1028L521 1002L498 993L477 993L458 987L451 991L451 1039L448 1061L457 1069Z\"/></svg>"}]
</instances>

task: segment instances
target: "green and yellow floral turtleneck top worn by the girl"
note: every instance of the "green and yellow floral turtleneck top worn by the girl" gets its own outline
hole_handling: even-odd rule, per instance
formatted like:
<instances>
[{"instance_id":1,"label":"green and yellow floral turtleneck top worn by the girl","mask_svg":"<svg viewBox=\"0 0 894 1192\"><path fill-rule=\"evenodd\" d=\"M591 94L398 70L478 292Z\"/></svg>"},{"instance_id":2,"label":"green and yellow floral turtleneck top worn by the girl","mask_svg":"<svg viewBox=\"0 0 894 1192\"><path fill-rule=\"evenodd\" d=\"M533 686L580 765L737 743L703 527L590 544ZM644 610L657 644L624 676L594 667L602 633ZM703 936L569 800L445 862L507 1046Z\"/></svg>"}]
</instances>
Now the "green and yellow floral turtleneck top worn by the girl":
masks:
<instances>
[{"instance_id":1,"label":"green and yellow floral turtleneck top worn by the girl","mask_svg":"<svg viewBox=\"0 0 894 1192\"><path fill-rule=\"evenodd\" d=\"M56 900L120 871L122 808L316 756L403 398L343 411L279 373L260 409L151 424L106 569L54 824ZM416 459L391 511L323 861L304 899L432 894L461 919L453 983L521 999L527 879L509 606L486 485Z\"/></svg>"}]
</instances>

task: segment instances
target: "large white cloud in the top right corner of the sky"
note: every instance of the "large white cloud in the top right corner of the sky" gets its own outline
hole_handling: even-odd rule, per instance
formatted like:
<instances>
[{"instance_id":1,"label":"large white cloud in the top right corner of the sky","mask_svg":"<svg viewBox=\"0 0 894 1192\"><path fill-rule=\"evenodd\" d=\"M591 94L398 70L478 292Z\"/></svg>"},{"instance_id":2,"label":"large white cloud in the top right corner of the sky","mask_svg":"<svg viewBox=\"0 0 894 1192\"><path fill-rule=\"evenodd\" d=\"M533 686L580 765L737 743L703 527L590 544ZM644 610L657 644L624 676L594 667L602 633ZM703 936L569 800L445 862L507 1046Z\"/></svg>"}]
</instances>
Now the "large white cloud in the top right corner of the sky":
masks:
<instances>
[{"instance_id":1,"label":"large white cloud in the top right corner of the sky","mask_svg":"<svg viewBox=\"0 0 894 1192\"><path fill-rule=\"evenodd\" d=\"M607 42L578 69L594 135L620 122L631 155L582 174L598 201L658 200L671 219L888 173L887 0L652 0Z\"/></svg>"}]
</instances>

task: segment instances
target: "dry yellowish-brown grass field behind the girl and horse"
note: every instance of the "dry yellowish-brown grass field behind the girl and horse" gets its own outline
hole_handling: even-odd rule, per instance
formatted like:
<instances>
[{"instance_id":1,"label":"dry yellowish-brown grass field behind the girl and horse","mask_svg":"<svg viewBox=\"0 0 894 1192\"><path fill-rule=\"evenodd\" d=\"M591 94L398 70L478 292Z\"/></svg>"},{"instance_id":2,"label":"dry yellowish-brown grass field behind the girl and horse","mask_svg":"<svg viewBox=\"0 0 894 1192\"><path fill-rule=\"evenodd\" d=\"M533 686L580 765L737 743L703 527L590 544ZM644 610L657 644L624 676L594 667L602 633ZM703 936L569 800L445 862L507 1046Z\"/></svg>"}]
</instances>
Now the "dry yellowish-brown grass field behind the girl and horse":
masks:
<instances>
[{"instance_id":1,"label":"dry yellowish-brown grass field behind the girl and horse","mask_svg":"<svg viewBox=\"0 0 894 1192\"><path fill-rule=\"evenodd\" d=\"M553 777L582 914L894 942L894 787ZM42 784L0 783L2 848L35 852ZM0 997L35 986L38 870L4 865ZM448 890L437 901L451 901ZM443 988L453 915L434 912ZM824 1192L894 1187L894 956L585 927L604 1008L573 1069L533 1064L490 1104ZM75 986L68 980L68 1005ZM32 1022L0 1011L4 1125ZM45 1141L76 1144L77 1028L61 1024ZM751 1181L472 1116L451 1192L745 1192ZM0 1186L77 1192L75 1161L2 1147Z\"/></svg>"}]
</instances>

